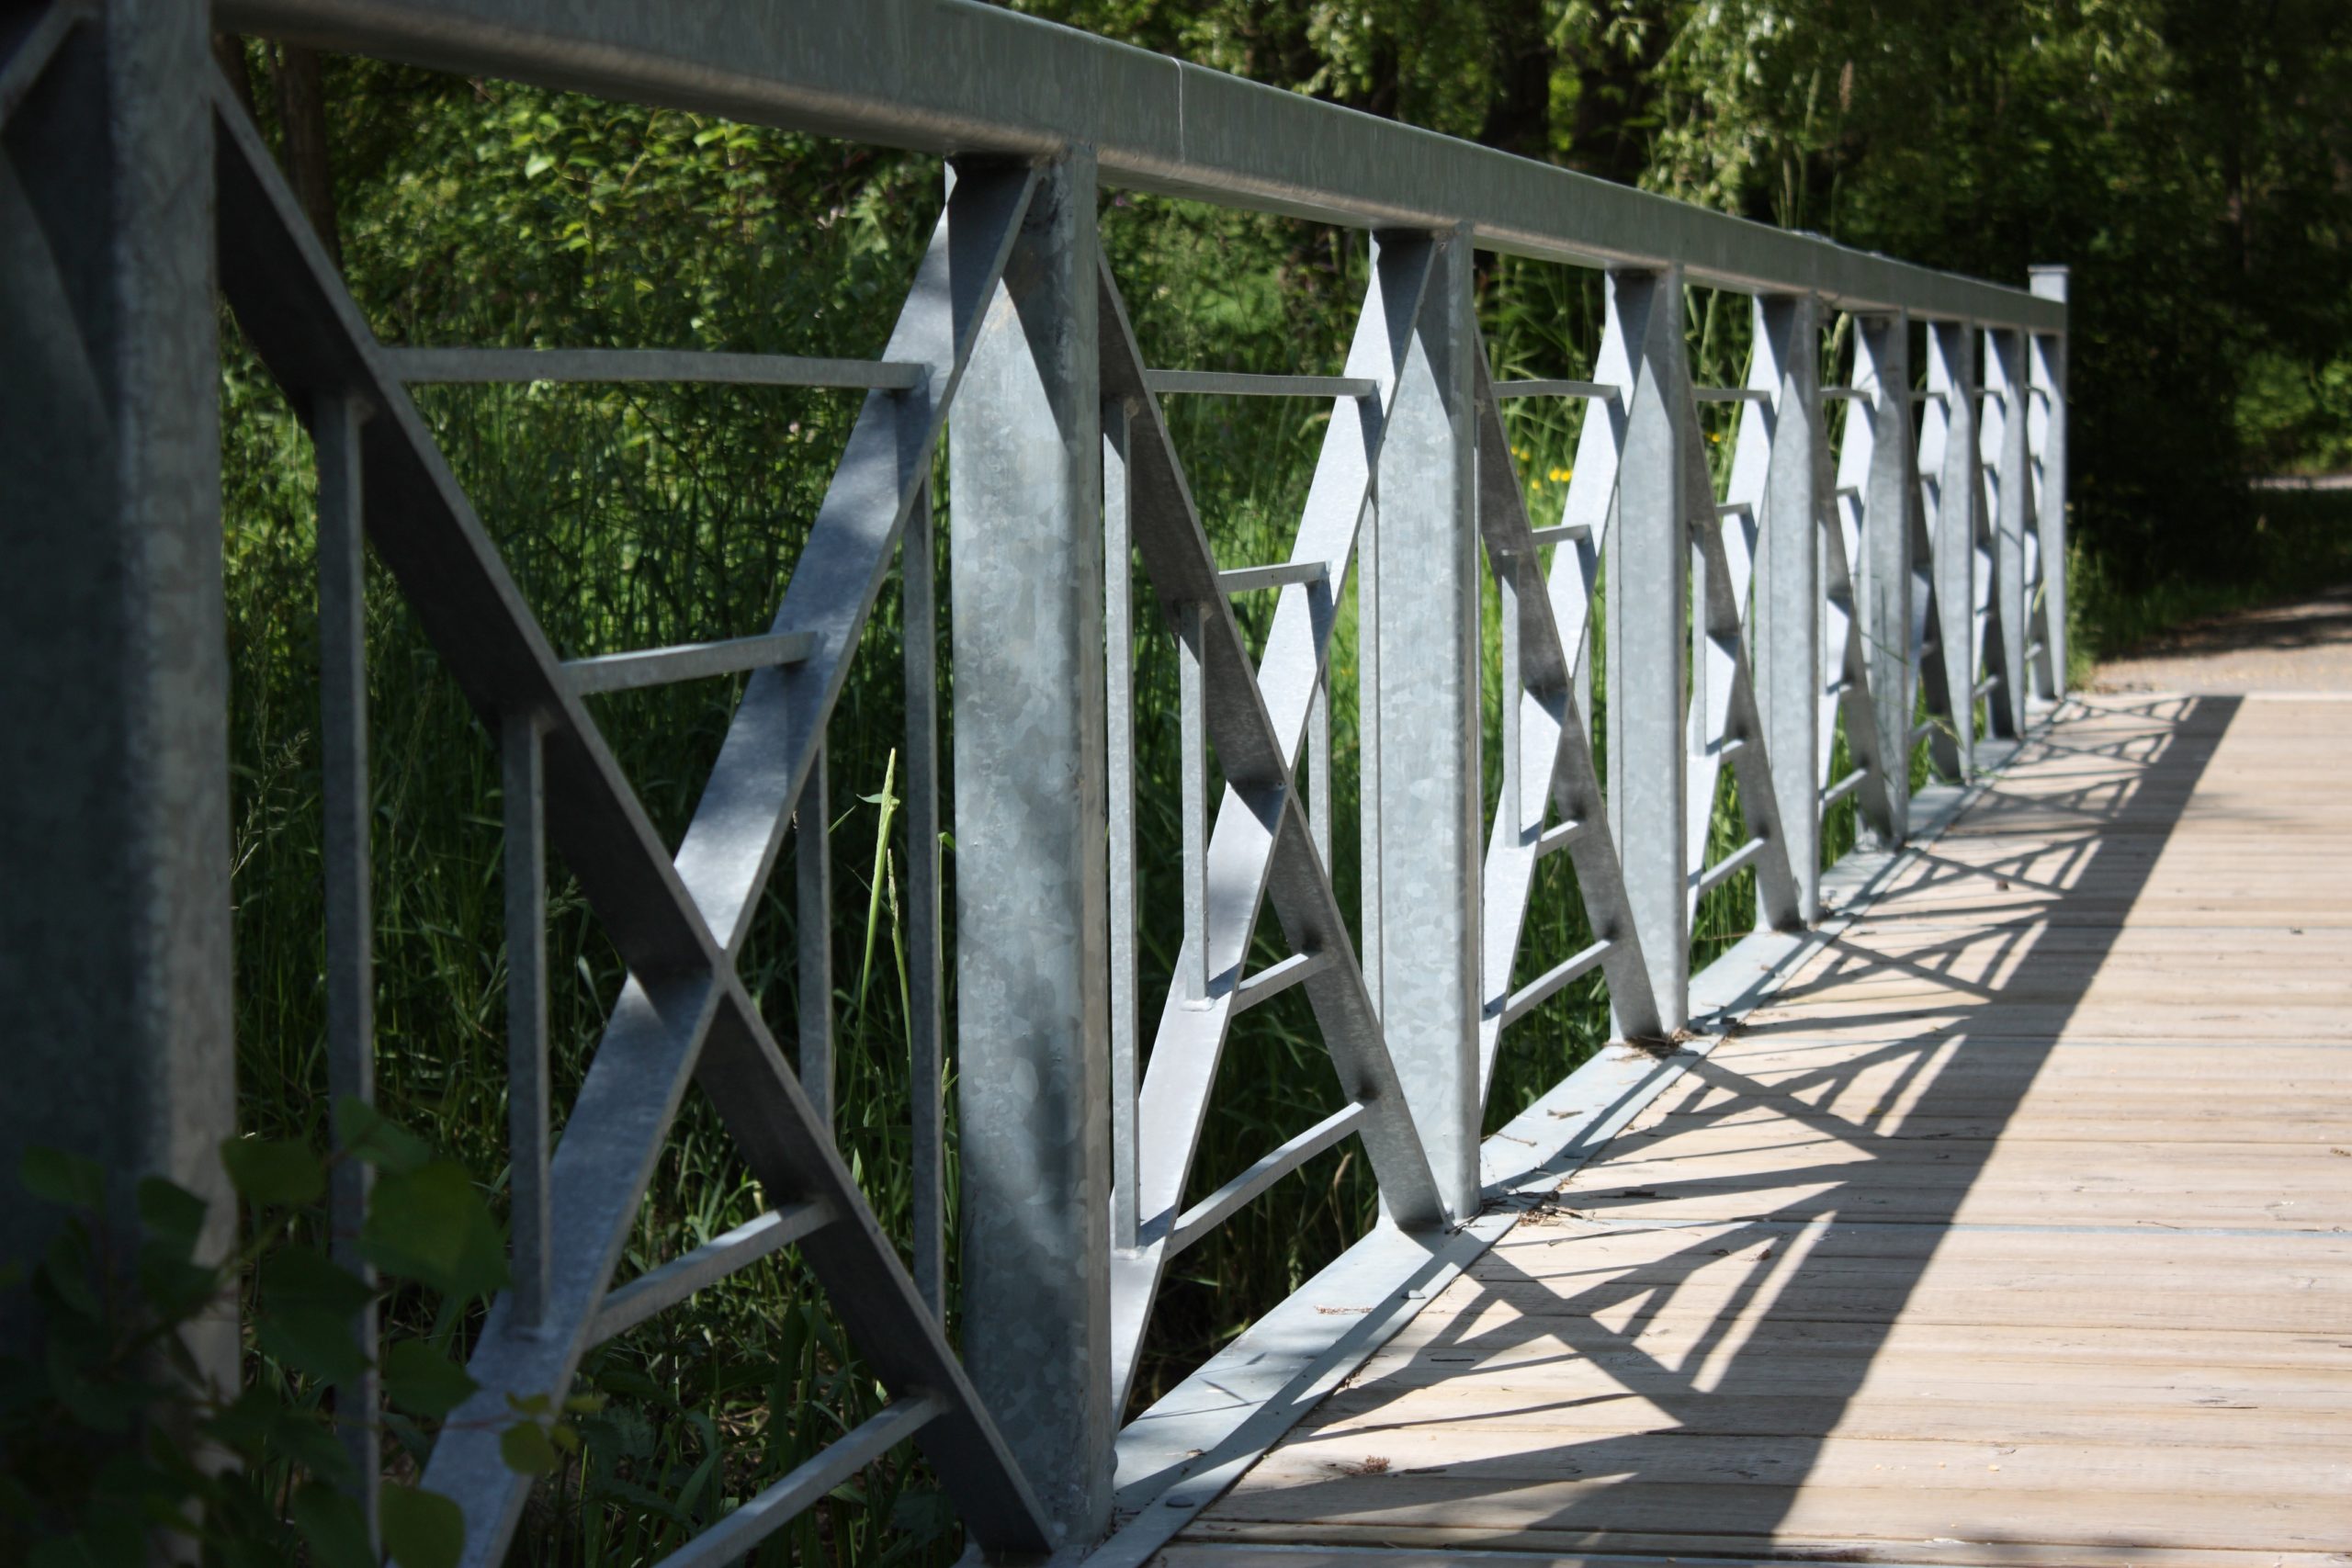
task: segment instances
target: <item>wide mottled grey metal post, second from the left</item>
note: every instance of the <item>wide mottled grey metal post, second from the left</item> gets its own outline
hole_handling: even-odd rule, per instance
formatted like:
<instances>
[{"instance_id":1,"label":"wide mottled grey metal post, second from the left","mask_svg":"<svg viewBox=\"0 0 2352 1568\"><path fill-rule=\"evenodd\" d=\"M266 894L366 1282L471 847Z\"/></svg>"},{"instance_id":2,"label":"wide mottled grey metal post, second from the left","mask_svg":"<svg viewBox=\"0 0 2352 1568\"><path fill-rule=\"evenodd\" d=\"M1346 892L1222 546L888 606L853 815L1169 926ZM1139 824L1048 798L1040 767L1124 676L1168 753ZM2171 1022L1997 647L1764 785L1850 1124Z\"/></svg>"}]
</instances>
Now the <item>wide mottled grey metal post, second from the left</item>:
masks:
<instances>
[{"instance_id":1,"label":"wide mottled grey metal post, second from the left","mask_svg":"<svg viewBox=\"0 0 2352 1568\"><path fill-rule=\"evenodd\" d=\"M1110 1521L1094 158L1044 167L955 397L964 1366L1063 1540Z\"/></svg>"}]
</instances>

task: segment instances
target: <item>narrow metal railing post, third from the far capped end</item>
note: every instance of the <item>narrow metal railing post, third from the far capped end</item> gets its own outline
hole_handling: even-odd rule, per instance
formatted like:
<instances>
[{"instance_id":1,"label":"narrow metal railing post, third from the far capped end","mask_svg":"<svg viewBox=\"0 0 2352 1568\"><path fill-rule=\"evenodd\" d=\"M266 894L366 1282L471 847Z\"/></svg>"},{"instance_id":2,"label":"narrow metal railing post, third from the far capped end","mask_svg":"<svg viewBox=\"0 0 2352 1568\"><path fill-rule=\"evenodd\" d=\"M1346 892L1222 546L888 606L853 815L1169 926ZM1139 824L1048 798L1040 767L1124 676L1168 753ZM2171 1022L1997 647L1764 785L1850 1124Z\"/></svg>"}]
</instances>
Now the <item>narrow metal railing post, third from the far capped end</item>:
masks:
<instances>
[{"instance_id":1,"label":"narrow metal railing post, third from the far capped end","mask_svg":"<svg viewBox=\"0 0 2352 1568\"><path fill-rule=\"evenodd\" d=\"M1969 780L1976 776L1976 534L1985 482L1976 451L1976 331L1966 322L1929 322L1926 397L1919 468L1936 484L1929 712L1943 719L1929 750L1945 778Z\"/></svg>"}]
</instances>

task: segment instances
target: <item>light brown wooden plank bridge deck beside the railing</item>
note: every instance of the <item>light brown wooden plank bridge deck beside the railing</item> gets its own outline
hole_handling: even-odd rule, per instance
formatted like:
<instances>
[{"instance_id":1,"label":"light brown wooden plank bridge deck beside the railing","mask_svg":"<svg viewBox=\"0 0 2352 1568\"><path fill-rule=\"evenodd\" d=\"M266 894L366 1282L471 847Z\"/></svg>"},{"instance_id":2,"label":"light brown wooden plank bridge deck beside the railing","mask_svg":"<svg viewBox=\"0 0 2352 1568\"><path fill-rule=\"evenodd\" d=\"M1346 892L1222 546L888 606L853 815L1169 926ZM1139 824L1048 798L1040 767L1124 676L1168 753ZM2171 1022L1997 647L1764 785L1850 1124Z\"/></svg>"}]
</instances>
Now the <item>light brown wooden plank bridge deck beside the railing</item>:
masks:
<instances>
[{"instance_id":1,"label":"light brown wooden plank bridge deck beside the railing","mask_svg":"<svg viewBox=\"0 0 2352 1568\"><path fill-rule=\"evenodd\" d=\"M1162 1561L2352 1563L2347 778L2072 708Z\"/></svg>"}]
</instances>

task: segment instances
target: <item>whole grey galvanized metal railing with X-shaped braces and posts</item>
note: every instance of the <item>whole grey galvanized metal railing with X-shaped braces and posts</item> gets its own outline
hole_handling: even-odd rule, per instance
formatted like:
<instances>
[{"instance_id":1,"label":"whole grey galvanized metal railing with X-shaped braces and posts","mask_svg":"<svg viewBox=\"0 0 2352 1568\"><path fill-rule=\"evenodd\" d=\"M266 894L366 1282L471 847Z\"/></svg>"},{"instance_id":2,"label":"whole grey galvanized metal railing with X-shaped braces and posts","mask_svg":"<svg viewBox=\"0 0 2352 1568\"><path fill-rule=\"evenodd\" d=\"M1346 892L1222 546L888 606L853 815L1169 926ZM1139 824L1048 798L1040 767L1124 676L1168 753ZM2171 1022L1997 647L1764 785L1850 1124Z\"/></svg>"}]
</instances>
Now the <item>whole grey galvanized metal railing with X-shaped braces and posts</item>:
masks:
<instances>
[{"instance_id":1,"label":"whole grey galvanized metal railing with X-shaped braces and posts","mask_svg":"<svg viewBox=\"0 0 2352 1568\"><path fill-rule=\"evenodd\" d=\"M202 494L207 468L172 433L191 421L200 433L209 416L202 256L214 242L221 289L318 444L329 1032L343 1093L372 1084L362 536L503 759L515 1286L470 1363L482 1392L426 1472L461 1500L473 1563L501 1559L527 1490L496 1455L508 1396L562 1389L590 1345L786 1246L833 1295L894 1403L675 1561L746 1552L901 1439L924 1448L983 1552L1098 1540L1112 1516L1117 1413L1171 1258L1348 1138L1378 1173L1383 1232L1435 1246L1484 1204L1479 1128L1515 1023L1597 971L1618 1037L1675 1037L1691 1025L1691 922L1710 889L1752 870L1759 926L1809 926L1830 806L1851 797L1867 835L1898 844L1917 741L1943 776L1966 778L1980 708L1983 733L2009 738L2030 701L2063 691L2060 270L2039 270L2030 292L1931 273L957 0L807 0L755 16L722 0L212 9L223 28L950 155L946 212L877 362L395 350L372 336L216 78L202 7L54 0L0 38L0 113L12 118L0 233L47 235L0 249L0 292L33 310L16 317L33 327L0 339L0 381L40 386L47 400L40 411L9 404L47 447L38 461L21 444L0 458L0 494L52 508L54 527L85 520L106 548L176 538L202 552L205 508L186 496ZM115 125L92 120L45 92L59 73L139 108ZM28 148L68 143L136 176L141 200L78 200L26 169ZM214 233L186 200L155 195L174 179L216 195ZM1096 247L1098 183L1371 230L1345 362L1319 376L1145 364ZM1606 270L1590 381L1491 378L1472 313L1477 249ZM71 331L80 343L66 348L85 355L120 348L106 336L120 331L113 315L68 299L68 254L108 256L108 310L146 334L143 348L111 360L122 374L108 383L68 386L75 360L56 348ZM1686 284L1752 296L1743 386L1691 383ZM1851 317L1853 369L1849 386L1825 388L1835 315ZM1917 390L1915 324L1926 346ZM515 378L863 393L771 630L557 658L405 390ZM1329 402L1289 559L1216 557L1162 414L1164 397L1192 393ZM1588 404L1557 520L1529 515L1503 421L1515 397ZM1738 409L1722 487L1705 461L1703 402ZM1825 409L1837 402L1846 416L1832 451ZM120 418L151 404L176 423L158 435ZM953 954L941 940L936 665L915 632L934 623L929 475L941 440L955 607ZM111 489L80 489L85 470L49 463L61 449L106 458ZM158 522L151 508L165 494L183 510ZM78 548L96 545L40 545ZM1145 604L1131 602L1134 564ZM917 846L908 1048L913 1081L931 1086L915 1095L913 1262L833 1150L821 980L826 724L894 571L910 628ZM1491 820L1482 571L1501 595ZM1362 802L1352 912L1331 877L1331 639L1350 581ZM113 776L113 804L101 802L139 816L179 780L226 766L226 684L205 642L216 637L216 576L167 574L125 592L115 621L33 630L82 637L75 646L96 665L115 642L143 639L193 670L172 701L193 691L212 717L151 724L160 750ZM1256 592L1277 595L1263 654L1232 611L1237 595ZM1599 602L1606 748L1592 736ZM1138 616L1152 611L1181 668L1183 947L1145 1030L1131 651ZM750 679L673 856L583 698L722 672ZM94 677L99 689L106 679L134 726L162 710L153 682ZM71 715L31 712L26 729L66 733ZM1832 776L1839 733L1851 766ZM1745 832L1705 863L1724 769ZM202 778L202 790L216 799L221 780ZM797 1074L734 969L795 825L800 961L811 976L795 1018ZM560 1140L548 1135L546 842L630 971ZM193 999L202 1023L202 1039L158 1046L165 1077L216 1063L226 1041L226 954L200 919L226 907L226 872L205 870L212 849L158 842L141 851L151 865L134 867L148 884L179 877L141 893L179 914L158 924L169 964L148 950L118 966L146 976L143 994ZM1536 978L1512 985L1529 957L1536 870L1555 851L1573 867L1592 943L1531 954ZM68 872L47 875L64 886ZM99 922L103 893L61 898L56 940L78 919ZM1289 957L1247 973L1268 905ZM960 1347L943 1326L948 1147L936 1093L950 957ZM1185 1201L1232 1020L1289 987L1308 999L1345 1105ZM689 1079L720 1105L774 1208L614 1288ZM219 1121L207 1093L186 1088L174 1114ZM362 1199L355 1185L336 1194L346 1211ZM374 1392L346 1399L372 1403ZM365 1474L369 1441L355 1436Z\"/></svg>"}]
</instances>

